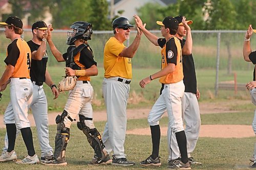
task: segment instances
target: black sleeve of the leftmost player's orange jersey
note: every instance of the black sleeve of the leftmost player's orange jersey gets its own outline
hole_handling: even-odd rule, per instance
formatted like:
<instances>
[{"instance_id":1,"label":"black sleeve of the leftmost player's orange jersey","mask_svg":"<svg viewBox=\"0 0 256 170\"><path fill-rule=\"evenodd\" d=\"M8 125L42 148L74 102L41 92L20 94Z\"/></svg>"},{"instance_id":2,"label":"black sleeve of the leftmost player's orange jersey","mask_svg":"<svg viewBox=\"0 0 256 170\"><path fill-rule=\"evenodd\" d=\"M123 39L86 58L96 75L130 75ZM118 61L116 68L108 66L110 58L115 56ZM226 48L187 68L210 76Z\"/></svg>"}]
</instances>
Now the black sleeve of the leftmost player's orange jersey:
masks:
<instances>
[{"instance_id":1,"label":"black sleeve of the leftmost player's orange jersey","mask_svg":"<svg viewBox=\"0 0 256 170\"><path fill-rule=\"evenodd\" d=\"M18 46L17 46L17 40L18 39L15 39L14 41L12 41L12 43L10 43L7 47L8 56L4 60L6 65L10 64L15 67L15 65L17 63L17 60L18 60L19 54L20 54Z\"/></svg>"}]
</instances>

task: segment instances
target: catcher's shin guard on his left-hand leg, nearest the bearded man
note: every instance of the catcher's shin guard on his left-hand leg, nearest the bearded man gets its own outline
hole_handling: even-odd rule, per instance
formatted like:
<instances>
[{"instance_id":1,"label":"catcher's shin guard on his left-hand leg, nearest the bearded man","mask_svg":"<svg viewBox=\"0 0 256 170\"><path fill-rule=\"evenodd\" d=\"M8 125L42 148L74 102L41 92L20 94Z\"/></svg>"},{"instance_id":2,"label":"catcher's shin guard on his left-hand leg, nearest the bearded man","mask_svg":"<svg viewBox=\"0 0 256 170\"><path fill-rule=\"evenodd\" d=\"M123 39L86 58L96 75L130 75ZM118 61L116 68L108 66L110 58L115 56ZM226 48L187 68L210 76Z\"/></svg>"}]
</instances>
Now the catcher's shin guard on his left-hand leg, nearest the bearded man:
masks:
<instances>
[{"instance_id":1,"label":"catcher's shin guard on his left-hand leg, nearest the bearded man","mask_svg":"<svg viewBox=\"0 0 256 170\"><path fill-rule=\"evenodd\" d=\"M64 118L68 115L66 110L60 115L57 115L55 122L57 124L57 133L55 136L55 150L54 150L54 158L56 160L65 159L65 151L68 145L69 137L70 137L70 129L65 128L63 124Z\"/></svg>"}]
</instances>

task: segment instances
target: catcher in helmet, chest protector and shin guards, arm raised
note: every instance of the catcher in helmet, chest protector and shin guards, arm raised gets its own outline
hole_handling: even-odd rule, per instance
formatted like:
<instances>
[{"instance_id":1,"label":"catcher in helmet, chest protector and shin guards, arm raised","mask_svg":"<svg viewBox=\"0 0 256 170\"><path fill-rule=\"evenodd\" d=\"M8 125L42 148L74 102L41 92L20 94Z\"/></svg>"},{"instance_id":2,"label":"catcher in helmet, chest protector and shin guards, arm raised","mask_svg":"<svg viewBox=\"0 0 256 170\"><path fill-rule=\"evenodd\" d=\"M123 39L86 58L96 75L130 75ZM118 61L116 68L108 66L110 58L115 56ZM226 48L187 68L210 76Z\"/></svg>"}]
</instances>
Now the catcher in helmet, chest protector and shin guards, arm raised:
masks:
<instances>
[{"instance_id":1,"label":"catcher in helmet, chest protector and shin guards, arm raised","mask_svg":"<svg viewBox=\"0 0 256 170\"><path fill-rule=\"evenodd\" d=\"M86 136L94 149L94 159L89 165L110 164L112 160L104 149L101 135L93 123L93 87L90 76L98 75L97 63L94 61L93 51L88 44L91 39L92 24L76 21L70 27L73 32L68 32L67 53L61 54L48 37L48 43L55 58L59 62L66 61L66 75L77 76L76 86L69 93L65 109L56 117L57 134L55 137L54 159L41 162L46 165L67 165L65 151L70 138L70 127L73 120L79 115L77 127ZM73 46L75 45L75 46Z\"/></svg>"}]
</instances>

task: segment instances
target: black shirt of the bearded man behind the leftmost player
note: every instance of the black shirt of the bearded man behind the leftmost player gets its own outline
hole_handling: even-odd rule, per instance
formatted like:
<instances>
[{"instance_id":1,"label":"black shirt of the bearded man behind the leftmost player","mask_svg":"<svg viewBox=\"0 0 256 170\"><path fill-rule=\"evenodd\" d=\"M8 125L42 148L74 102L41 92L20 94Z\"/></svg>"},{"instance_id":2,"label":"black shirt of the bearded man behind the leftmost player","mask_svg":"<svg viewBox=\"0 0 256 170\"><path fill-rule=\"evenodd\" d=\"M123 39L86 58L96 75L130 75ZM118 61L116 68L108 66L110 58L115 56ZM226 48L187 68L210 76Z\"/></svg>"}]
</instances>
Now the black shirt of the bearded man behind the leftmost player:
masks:
<instances>
[{"instance_id":1,"label":"black shirt of the bearded man behind the leftmost player","mask_svg":"<svg viewBox=\"0 0 256 170\"><path fill-rule=\"evenodd\" d=\"M40 47L39 44L34 43L32 40L27 42L31 53L37 51ZM46 81L46 65L48 61L48 53L45 52L41 60L31 59L30 77L31 81L35 82L45 82Z\"/></svg>"}]
</instances>

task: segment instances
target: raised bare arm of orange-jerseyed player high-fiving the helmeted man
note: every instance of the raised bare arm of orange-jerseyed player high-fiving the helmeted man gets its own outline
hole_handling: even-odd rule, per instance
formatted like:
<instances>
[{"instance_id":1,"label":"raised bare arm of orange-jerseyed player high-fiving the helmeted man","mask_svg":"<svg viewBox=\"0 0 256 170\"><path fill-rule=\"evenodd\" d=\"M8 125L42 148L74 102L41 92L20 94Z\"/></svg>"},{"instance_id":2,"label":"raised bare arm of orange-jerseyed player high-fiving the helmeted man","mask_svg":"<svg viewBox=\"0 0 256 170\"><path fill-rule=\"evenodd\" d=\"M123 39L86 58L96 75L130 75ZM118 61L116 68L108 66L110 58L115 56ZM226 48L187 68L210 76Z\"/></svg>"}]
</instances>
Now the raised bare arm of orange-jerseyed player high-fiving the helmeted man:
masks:
<instances>
[{"instance_id":1,"label":"raised bare arm of orange-jerseyed player high-fiving the helmeted man","mask_svg":"<svg viewBox=\"0 0 256 170\"><path fill-rule=\"evenodd\" d=\"M157 40L158 37L155 36L154 34L152 34L151 32L149 32L145 26L143 26L142 24L142 20L140 19L140 17L138 15L134 15L135 17L135 22L136 22L136 26L145 34L146 38L148 40L150 40L154 45L159 46Z\"/></svg>"}]
</instances>

